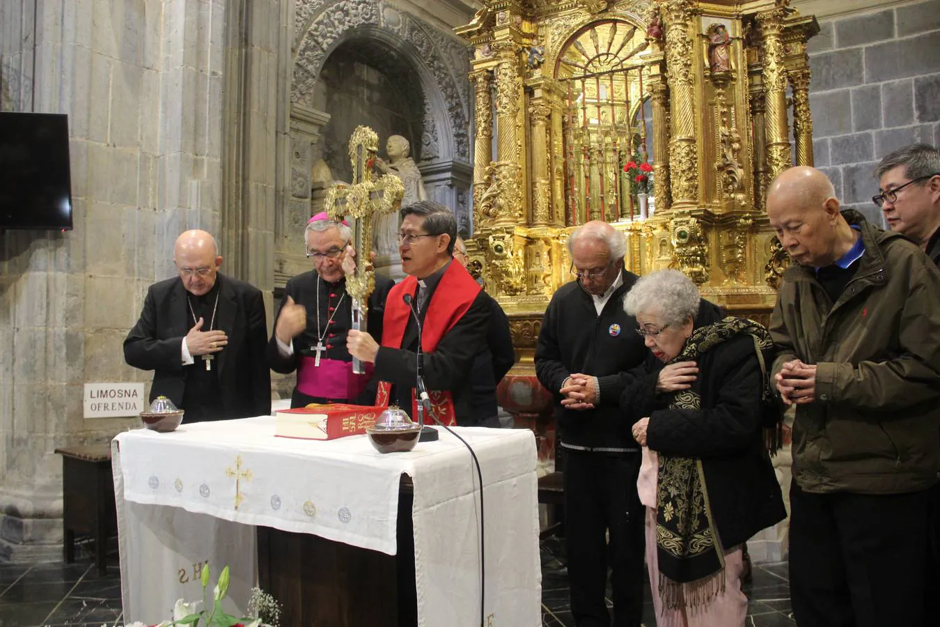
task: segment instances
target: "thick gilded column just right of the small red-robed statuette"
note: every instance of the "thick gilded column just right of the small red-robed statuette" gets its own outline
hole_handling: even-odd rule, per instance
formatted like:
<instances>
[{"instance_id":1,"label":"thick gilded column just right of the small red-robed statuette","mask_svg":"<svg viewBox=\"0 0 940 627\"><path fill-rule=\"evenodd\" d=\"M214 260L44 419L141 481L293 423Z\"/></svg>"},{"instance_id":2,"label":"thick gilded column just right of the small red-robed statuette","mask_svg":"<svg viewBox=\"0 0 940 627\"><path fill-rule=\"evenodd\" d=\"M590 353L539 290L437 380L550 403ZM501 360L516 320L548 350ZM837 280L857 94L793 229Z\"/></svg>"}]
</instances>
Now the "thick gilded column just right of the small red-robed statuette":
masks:
<instances>
[{"instance_id":1,"label":"thick gilded column just right of the small red-robed statuette","mask_svg":"<svg viewBox=\"0 0 940 627\"><path fill-rule=\"evenodd\" d=\"M783 8L758 13L763 37L764 129L767 141L767 177L790 167L790 139L787 136L787 76L784 69Z\"/></svg>"}]
</instances>

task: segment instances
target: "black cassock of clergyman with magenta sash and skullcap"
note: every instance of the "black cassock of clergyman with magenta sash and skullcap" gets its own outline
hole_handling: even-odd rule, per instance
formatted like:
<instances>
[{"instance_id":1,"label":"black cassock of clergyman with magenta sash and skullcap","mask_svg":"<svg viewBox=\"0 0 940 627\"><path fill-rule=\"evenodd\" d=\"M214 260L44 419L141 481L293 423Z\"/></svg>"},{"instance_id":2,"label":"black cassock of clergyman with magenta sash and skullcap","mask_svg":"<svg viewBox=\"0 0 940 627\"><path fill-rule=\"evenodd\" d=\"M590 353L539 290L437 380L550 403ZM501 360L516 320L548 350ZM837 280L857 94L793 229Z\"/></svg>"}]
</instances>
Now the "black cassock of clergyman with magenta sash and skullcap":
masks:
<instances>
[{"instance_id":1,"label":"black cassock of clergyman with magenta sash and skullcap","mask_svg":"<svg viewBox=\"0 0 940 627\"><path fill-rule=\"evenodd\" d=\"M288 281L284 288L284 297L277 308L274 317L274 328L277 327L277 316L290 296L294 303L306 308L306 329L304 333L293 338L293 354L285 357L277 347L277 338L272 331L268 341L268 363L274 372L290 374L295 371L303 357L316 358L317 352L317 291L320 291L320 333L323 337L321 359L333 359L350 363L352 369L352 355L346 349L346 334L352 326L352 298L346 293L346 279L337 283L328 283L320 279L315 270L298 274ZM388 292L395 285L391 279L375 275L375 290L368 297L367 330L376 342L382 342L382 318L385 310L385 299ZM333 320L327 324L332 316ZM291 407L303 407L311 402L341 401L360 405L371 405L375 400L375 383L370 381L365 390L353 399L328 399L307 395L294 386L290 396Z\"/></svg>"}]
</instances>

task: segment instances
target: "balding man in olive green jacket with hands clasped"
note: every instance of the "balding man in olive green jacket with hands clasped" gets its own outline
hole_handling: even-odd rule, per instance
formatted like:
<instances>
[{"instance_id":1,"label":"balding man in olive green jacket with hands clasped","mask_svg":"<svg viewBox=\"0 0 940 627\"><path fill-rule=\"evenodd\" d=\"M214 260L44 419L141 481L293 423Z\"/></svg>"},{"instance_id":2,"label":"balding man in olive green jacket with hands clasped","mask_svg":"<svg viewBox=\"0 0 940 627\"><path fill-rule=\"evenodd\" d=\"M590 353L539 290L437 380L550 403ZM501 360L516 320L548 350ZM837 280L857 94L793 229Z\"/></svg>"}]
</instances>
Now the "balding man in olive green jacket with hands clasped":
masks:
<instances>
[{"instance_id":1,"label":"balding man in olive green jacket with hands clasped","mask_svg":"<svg viewBox=\"0 0 940 627\"><path fill-rule=\"evenodd\" d=\"M926 624L929 493L940 470L940 271L897 233L839 212L811 167L767 214L795 261L770 331L796 405L790 575L800 627Z\"/></svg>"}]
</instances>

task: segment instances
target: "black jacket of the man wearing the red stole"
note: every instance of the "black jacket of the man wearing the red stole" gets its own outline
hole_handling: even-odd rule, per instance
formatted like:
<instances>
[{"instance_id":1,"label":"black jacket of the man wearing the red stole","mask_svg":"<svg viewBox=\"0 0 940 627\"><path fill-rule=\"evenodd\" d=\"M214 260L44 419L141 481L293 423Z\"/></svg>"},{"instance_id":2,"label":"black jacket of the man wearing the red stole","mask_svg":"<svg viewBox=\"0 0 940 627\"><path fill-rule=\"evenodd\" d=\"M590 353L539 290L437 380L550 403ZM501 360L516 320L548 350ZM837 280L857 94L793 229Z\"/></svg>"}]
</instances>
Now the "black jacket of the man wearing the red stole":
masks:
<instances>
[{"instance_id":1,"label":"black jacket of the man wearing the red stole","mask_svg":"<svg viewBox=\"0 0 940 627\"><path fill-rule=\"evenodd\" d=\"M431 292L429 299L433 299ZM429 390L447 390L454 401L457 424L472 427L489 415L476 415L473 408L473 377L470 376L479 348L486 344L490 321L490 296L480 290L473 304L437 343L431 353L424 353L424 381ZM430 303L430 300L428 301ZM422 319L429 305L419 314ZM401 348L379 347L375 357L375 376L394 385L392 401L412 414L411 390L417 378L417 325L408 319ZM413 416L415 417L415 416Z\"/></svg>"}]
</instances>

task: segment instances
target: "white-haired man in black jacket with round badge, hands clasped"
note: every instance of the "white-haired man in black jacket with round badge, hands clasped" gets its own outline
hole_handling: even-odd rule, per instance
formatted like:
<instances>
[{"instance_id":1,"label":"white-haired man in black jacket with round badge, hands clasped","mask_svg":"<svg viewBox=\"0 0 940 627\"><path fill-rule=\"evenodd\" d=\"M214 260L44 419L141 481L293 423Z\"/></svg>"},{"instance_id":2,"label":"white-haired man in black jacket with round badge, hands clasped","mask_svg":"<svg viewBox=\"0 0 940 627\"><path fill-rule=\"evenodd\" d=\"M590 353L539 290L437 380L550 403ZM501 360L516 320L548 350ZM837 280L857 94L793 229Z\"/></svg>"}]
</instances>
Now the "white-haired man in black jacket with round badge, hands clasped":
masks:
<instances>
[{"instance_id":1,"label":"white-haired man in black jacket with round badge, hands clasped","mask_svg":"<svg viewBox=\"0 0 940 627\"><path fill-rule=\"evenodd\" d=\"M638 627L644 546L644 510L636 494L640 447L622 429L619 410L631 381L627 371L646 357L636 320L622 306L637 277L623 268L623 234L605 222L575 230L568 249L577 280L557 290L545 311L535 367L557 401L572 616L579 627L611 624L604 603L609 567L613 624Z\"/></svg>"}]
</instances>

